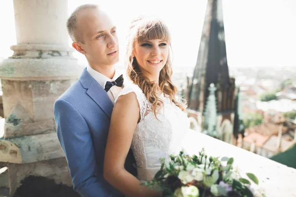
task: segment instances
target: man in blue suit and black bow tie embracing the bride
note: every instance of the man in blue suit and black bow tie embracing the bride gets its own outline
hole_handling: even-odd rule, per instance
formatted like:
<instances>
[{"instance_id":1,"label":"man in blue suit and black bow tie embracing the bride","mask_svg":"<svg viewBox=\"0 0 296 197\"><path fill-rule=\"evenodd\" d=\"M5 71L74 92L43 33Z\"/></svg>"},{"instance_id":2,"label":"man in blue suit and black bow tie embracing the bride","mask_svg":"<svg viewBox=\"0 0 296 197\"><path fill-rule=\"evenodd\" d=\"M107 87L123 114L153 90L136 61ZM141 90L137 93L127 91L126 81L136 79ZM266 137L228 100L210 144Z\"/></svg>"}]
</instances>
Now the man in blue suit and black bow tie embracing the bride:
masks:
<instances>
[{"instance_id":1,"label":"man in blue suit and black bow tie embracing the bride","mask_svg":"<svg viewBox=\"0 0 296 197\"><path fill-rule=\"evenodd\" d=\"M88 66L54 104L57 134L76 190L82 197L123 197L103 178L105 146L114 99L122 89L118 38L110 17L96 5L79 6L67 21L72 46ZM136 175L132 152L125 168Z\"/></svg>"}]
</instances>

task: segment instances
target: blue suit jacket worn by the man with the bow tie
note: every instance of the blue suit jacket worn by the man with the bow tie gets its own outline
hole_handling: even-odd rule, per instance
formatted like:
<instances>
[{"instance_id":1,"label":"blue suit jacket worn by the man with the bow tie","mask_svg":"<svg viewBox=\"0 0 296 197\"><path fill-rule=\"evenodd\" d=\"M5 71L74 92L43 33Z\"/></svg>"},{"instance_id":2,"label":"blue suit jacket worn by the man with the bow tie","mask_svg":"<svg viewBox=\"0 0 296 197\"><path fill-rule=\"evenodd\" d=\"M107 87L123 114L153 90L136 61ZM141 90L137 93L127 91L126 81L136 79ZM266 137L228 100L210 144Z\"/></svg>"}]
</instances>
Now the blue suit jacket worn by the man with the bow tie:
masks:
<instances>
[{"instance_id":1,"label":"blue suit jacket worn by the man with the bow tie","mask_svg":"<svg viewBox=\"0 0 296 197\"><path fill-rule=\"evenodd\" d=\"M54 104L57 134L74 190L82 197L123 197L103 178L103 164L113 103L103 87L83 70ZM132 151L125 168L136 174Z\"/></svg>"}]
</instances>

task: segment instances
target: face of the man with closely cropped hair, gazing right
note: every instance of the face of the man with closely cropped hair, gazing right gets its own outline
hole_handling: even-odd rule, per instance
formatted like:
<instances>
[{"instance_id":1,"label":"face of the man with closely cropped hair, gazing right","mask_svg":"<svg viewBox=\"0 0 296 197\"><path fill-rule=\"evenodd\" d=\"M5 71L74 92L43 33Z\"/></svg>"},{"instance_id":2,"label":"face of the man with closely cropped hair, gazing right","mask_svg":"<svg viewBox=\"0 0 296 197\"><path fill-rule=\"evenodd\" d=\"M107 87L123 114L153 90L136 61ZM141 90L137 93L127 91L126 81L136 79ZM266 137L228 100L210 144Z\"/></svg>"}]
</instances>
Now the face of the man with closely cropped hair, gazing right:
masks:
<instances>
[{"instance_id":1,"label":"face of the man with closely cropped hair, gazing right","mask_svg":"<svg viewBox=\"0 0 296 197\"><path fill-rule=\"evenodd\" d=\"M116 27L105 12L89 8L78 13L77 31L90 66L112 66L119 61Z\"/></svg>"}]
</instances>

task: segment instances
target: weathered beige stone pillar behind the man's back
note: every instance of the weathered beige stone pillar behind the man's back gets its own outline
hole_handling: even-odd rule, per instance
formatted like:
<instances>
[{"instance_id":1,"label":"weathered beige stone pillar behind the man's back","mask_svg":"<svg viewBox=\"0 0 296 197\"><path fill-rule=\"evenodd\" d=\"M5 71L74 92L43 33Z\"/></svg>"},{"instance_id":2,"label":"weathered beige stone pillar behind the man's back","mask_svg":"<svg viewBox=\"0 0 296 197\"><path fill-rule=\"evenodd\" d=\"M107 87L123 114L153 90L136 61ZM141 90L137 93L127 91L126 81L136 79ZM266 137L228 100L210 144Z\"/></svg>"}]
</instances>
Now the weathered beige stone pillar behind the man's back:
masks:
<instances>
[{"instance_id":1,"label":"weathered beige stone pillar behind the man's back","mask_svg":"<svg viewBox=\"0 0 296 197\"><path fill-rule=\"evenodd\" d=\"M10 194L28 175L71 185L53 104L82 71L69 47L68 1L13 2L17 45L0 65L5 118L0 162L8 162Z\"/></svg>"}]
</instances>

